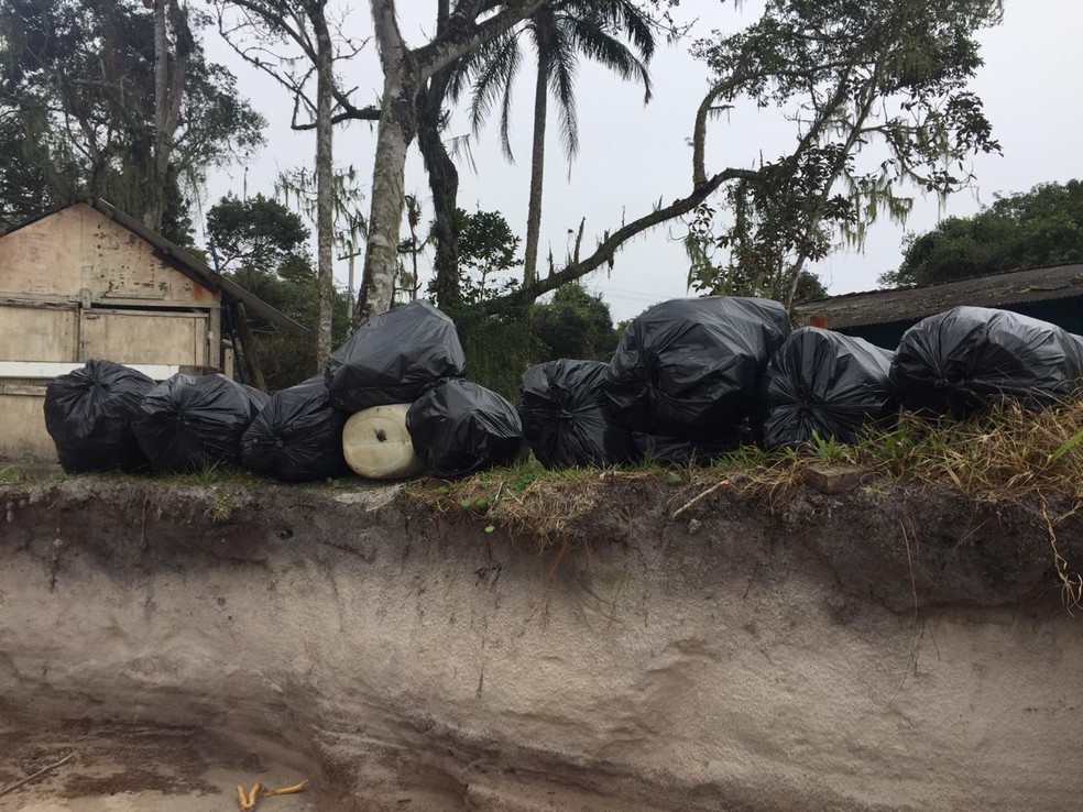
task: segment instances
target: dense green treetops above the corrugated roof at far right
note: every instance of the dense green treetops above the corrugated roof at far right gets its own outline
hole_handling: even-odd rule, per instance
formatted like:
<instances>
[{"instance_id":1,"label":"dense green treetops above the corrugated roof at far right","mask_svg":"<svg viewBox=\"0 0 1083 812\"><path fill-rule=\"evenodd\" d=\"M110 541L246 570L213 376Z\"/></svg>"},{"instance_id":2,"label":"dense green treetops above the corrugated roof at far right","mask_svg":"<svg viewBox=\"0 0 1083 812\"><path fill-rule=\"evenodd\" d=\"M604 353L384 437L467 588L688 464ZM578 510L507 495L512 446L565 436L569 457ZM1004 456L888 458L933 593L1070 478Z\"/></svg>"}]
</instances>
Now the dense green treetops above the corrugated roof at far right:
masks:
<instances>
[{"instance_id":1,"label":"dense green treetops above the corrugated roof at far right","mask_svg":"<svg viewBox=\"0 0 1083 812\"><path fill-rule=\"evenodd\" d=\"M1083 182L1049 183L997 196L974 217L945 218L908 234L886 287L936 285L970 276L1083 262Z\"/></svg>"}]
</instances>

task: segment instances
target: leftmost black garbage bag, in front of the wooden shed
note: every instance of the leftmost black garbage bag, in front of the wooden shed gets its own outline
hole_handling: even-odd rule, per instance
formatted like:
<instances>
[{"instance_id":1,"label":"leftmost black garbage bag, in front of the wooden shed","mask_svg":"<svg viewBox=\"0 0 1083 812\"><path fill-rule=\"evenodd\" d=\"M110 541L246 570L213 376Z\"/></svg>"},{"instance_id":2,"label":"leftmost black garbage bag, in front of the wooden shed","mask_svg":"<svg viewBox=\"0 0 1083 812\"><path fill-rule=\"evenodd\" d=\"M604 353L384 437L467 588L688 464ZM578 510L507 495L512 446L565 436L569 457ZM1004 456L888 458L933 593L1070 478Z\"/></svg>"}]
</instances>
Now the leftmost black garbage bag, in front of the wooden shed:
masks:
<instances>
[{"instance_id":1,"label":"leftmost black garbage bag, in front of the wooden shed","mask_svg":"<svg viewBox=\"0 0 1083 812\"><path fill-rule=\"evenodd\" d=\"M131 423L154 381L112 361L87 361L45 389L45 429L68 473L139 471L146 457Z\"/></svg>"}]
</instances>

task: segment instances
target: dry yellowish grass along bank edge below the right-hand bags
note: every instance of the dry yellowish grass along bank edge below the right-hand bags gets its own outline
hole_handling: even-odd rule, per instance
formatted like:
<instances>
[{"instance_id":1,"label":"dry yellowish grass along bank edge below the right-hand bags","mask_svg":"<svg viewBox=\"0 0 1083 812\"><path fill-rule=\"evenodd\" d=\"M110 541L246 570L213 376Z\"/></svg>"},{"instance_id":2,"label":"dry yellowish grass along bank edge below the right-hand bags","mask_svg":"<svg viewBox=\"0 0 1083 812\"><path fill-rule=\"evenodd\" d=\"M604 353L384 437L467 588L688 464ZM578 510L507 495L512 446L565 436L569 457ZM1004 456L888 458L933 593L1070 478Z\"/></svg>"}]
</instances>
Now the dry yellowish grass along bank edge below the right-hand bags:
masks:
<instances>
[{"instance_id":1,"label":"dry yellowish grass along bank edge below the right-hand bags","mask_svg":"<svg viewBox=\"0 0 1083 812\"><path fill-rule=\"evenodd\" d=\"M417 480L408 493L486 533L499 527L543 547L565 548L583 535L579 519L597 522L614 484L639 485L644 494L670 492L664 502L677 519L722 489L774 507L792 495L808 470L825 465L861 469L866 490L934 486L1019 506L1049 538L1065 606L1083 605L1083 578L1057 544L1058 526L1083 508L1083 399L1037 414L1003 404L965 421L902 414L894 427L868 429L853 445L818 439L799 449L745 447L702 467L547 471L530 461L452 482Z\"/></svg>"}]
</instances>

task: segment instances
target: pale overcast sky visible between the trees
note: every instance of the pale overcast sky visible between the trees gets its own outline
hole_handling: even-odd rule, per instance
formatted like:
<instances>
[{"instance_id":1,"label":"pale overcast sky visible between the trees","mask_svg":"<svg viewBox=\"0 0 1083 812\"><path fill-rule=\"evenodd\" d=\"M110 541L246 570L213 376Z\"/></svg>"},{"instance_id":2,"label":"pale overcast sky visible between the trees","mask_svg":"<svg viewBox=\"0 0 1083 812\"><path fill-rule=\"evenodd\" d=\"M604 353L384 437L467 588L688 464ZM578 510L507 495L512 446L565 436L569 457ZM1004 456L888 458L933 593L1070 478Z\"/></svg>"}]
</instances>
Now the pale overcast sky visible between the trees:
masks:
<instances>
[{"instance_id":1,"label":"pale overcast sky visible between the trees","mask_svg":"<svg viewBox=\"0 0 1083 812\"><path fill-rule=\"evenodd\" d=\"M368 3L358 6L348 18L348 31L367 36L371 32ZM415 19L414 14L428 6L435 3L400 2L404 35L415 44L427 35L429 18ZM681 8L689 15L698 15L694 34L707 35L713 28L732 31L752 22L757 15L756 7L755 2L745 2L736 11L732 3L720 0L685 0ZM1083 92L1079 89L1083 76L1083 0L1005 0L1005 7L1004 24L981 35L985 66L973 85L985 101L1004 155L976 157L974 188L954 195L947 205L941 206L936 197L919 197L905 226L887 221L875 224L863 253L840 250L810 266L830 293L875 288L877 275L899 264L907 230L928 230L949 215L972 215L992 202L995 193L1022 191L1039 183L1083 177ZM212 59L229 65L237 74L240 91L270 122L267 145L249 162L247 173L237 166L216 172L208 180L205 205L230 190L240 195L245 186L249 195L271 195L280 171L310 164L310 158L306 158L315 152L315 139L311 133L289 130L291 103L285 92L237 58L217 32L208 30L205 44ZM342 73L347 74L348 86L358 87L354 98L359 103L376 98L381 76L374 44ZM550 129L546 143L542 257L551 250L559 265L580 218L587 218L586 255L597 237L617 228L622 218L635 219L649 211L659 198L670 201L691 188L688 141L705 88L707 70L688 55L687 44L677 44L659 50L650 64L650 75L654 98L644 106L641 88L582 63L577 84L579 154L569 166L556 127ZM533 68L525 61L513 114L516 163L508 164L502 156L494 125L472 144L477 172L460 162L459 205L468 210L499 210L524 235L532 94ZM556 124L555 116L550 116L550 122ZM775 157L789 146L794 132L777 116L757 117L743 110L711 127L708 173L726 166L753 166L761 151L767 158ZM449 134L469 134L464 116L452 119ZM351 124L335 133L336 163L353 164L365 193L374 141L367 124ZM428 187L416 149L407 165L406 189L427 206ZM427 208L426 219L430 216ZM614 319L630 318L656 301L688 294L687 262L679 242L671 239L679 230L679 223L671 223L641 235L617 254L611 272L595 272L586 279L588 288L610 304ZM203 239L200 227L197 239ZM358 272L360 275L360 262ZM339 263L337 276L343 284L346 273L346 264Z\"/></svg>"}]
</instances>

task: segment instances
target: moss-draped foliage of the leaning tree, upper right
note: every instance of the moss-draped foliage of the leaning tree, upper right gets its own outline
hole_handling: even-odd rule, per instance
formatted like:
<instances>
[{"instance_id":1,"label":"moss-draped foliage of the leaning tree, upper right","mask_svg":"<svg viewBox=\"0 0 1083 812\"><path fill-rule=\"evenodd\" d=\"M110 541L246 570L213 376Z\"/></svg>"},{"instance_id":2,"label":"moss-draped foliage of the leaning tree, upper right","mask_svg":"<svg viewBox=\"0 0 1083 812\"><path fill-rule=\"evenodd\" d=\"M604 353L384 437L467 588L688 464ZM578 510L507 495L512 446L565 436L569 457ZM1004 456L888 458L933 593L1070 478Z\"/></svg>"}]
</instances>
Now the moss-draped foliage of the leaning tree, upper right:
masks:
<instances>
[{"instance_id":1,"label":"moss-draped foliage of the leaning tree, upper right","mask_svg":"<svg viewBox=\"0 0 1083 812\"><path fill-rule=\"evenodd\" d=\"M969 89L982 65L976 33L999 22L999 6L772 0L743 31L697 42L693 54L715 75L704 111L752 102L785 109L798 130L791 152L726 188L724 223L715 228L705 206L691 218L692 286L735 279L790 305L805 263L836 235L860 246L879 215L906 217L912 200L900 183L940 196L965 186L966 158L999 151Z\"/></svg>"}]
</instances>

